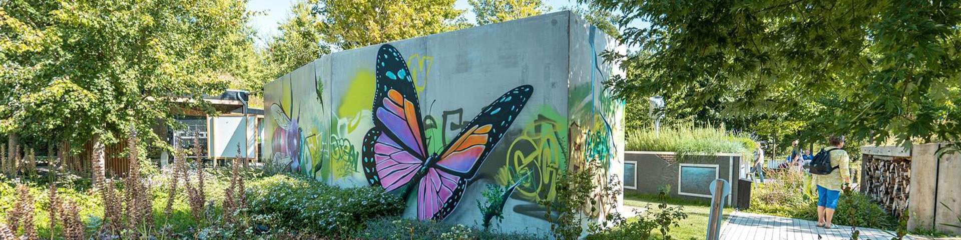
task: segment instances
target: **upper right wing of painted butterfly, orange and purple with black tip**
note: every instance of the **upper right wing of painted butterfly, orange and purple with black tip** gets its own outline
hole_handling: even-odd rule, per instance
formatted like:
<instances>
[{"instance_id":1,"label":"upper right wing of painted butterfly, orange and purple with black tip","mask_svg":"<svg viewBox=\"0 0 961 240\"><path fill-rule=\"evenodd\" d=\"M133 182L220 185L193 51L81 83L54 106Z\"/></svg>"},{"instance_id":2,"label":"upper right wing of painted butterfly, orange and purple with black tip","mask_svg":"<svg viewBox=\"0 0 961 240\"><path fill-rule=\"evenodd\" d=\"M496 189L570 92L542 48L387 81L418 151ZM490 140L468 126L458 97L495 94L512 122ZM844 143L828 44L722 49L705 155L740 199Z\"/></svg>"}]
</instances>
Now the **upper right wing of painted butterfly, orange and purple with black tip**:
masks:
<instances>
[{"instance_id":1,"label":"upper right wing of painted butterfly, orange and purple with black tip","mask_svg":"<svg viewBox=\"0 0 961 240\"><path fill-rule=\"evenodd\" d=\"M481 109L480 114L445 148L437 166L461 178L473 178L480 162L504 137L517 114L527 105L532 92L532 86L521 85Z\"/></svg>"}]
</instances>

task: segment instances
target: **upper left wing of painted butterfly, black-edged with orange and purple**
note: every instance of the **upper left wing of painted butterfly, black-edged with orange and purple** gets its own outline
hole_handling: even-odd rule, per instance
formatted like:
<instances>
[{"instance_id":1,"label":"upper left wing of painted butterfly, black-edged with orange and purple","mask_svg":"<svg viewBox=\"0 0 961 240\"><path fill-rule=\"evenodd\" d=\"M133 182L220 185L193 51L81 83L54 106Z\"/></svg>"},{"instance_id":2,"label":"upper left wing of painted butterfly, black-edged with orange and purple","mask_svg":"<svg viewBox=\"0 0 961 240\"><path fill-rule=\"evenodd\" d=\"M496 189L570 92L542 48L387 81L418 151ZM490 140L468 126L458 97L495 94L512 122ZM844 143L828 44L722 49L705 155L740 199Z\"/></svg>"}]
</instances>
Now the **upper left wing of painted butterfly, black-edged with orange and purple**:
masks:
<instances>
[{"instance_id":1,"label":"upper left wing of painted butterfly, black-edged with orange and purple","mask_svg":"<svg viewBox=\"0 0 961 240\"><path fill-rule=\"evenodd\" d=\"M377 53L377 89L374 94L374 126L394 137L415 156L427 158L420 102L407 61L390 44Z\"/></svg>"}]
</instances>

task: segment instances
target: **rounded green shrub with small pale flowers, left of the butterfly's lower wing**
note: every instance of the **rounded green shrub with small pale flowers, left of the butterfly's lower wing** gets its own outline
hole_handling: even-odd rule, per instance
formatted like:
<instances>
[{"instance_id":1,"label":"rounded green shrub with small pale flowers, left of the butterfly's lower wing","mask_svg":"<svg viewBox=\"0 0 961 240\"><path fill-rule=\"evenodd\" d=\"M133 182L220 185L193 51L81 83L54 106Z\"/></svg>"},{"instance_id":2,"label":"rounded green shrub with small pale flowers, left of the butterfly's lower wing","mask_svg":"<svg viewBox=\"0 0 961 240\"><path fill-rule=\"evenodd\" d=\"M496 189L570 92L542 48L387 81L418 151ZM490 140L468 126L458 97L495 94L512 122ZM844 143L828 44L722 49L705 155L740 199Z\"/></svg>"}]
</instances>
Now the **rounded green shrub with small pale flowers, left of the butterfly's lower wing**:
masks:
<instances>
[{"instance_id":1,"label":"rounded green shrub with small pale flowers, left of the butterfly's lower wing","mask_svg":"<svg viewBox=\"0 0 961 240\"><path fill-rule=\"evenodd\" d=\"M246 195L255 223L324 235L355 232L367 220L400 215L405 206L381 188L342 189L287 175L255 180Z\"/></svg>"}]
</instances>

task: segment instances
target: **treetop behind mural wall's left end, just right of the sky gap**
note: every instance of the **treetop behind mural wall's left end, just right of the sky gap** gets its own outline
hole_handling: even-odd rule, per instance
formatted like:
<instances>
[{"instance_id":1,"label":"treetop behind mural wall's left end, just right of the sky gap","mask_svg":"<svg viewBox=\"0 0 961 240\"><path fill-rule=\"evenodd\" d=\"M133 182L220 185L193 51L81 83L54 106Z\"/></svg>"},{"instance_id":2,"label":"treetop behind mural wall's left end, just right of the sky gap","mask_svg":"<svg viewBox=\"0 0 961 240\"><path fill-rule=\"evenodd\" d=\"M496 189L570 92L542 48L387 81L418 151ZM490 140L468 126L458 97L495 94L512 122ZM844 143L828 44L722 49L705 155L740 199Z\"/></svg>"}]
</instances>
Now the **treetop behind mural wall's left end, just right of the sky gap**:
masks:
<instances>
[{"instance_id":1,"label":"treetop behind mural wall's left end, just right of the sky gap","mask_svg":"<svg viewBox=\"0 0 961 240\"><path fill-rule=\"evenodd\" d=\"M308 1L302 0L290 8L287 19L278 27L281 34L267 42L266 55L272 71L270 80L331 53L330 47L322 44L319 23Z\"/></svg>"}]
</instances>

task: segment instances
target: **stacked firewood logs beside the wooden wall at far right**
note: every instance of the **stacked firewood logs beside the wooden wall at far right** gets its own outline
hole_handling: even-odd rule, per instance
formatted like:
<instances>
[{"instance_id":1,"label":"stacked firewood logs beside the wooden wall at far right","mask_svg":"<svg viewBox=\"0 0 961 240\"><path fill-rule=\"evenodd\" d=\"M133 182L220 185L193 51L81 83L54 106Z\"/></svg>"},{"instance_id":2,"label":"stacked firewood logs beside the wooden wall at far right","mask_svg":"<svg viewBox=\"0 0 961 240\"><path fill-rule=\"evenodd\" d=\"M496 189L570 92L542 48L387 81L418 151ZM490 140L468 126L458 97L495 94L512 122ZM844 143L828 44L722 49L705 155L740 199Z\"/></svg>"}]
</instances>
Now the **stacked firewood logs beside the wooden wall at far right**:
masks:
<instances>
[{"instance_id":1,"label":"stacked firewood logs beside the wooden wall at far right","mask_svg":"<svg viewBox=\"0 0 961 240\"><path fill-rule=\"evenodd\" d=\"M895 217L900 217L904 209L907 209L911 191L910 158L865 155L862 171L865 174L865 194Z\"/></svg>"}]
</instances>

